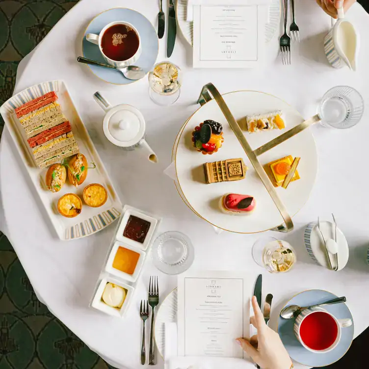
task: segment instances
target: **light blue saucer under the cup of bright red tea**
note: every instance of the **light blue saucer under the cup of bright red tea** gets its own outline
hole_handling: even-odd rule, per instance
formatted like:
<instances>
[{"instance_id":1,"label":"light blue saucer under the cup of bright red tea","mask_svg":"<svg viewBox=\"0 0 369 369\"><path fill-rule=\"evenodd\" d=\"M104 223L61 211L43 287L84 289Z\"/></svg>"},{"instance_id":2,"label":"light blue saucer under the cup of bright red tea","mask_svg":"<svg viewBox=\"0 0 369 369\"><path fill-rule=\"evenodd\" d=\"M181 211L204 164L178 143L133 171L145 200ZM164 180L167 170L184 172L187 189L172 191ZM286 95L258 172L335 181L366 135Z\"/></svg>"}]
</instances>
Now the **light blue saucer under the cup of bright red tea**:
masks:
<instances>
[{"instance_id":1,"label":"light blue saucer under the cup of bright red tea","mask_svg":"<svg viewBox=\"0 0 369 369\"><path fill-rule=\"evenodd\" d=\"M324 290L307 290L301 292L290 299L287 305L309 306L319 302L324 302L336 298L335 294ZM338 319L353 318L346 304L336 304L323 306L323 309L332 313ZM351 346L354 337L354 324L347 328L342 328L340 343L332 350L326 353L314 353L307 350L298 342L293 333L294 319L278 318L278 333L283 344L287 348L290 357L297 363L307 367L325 367L340 360Z\"/></svg>"}]
</instances>

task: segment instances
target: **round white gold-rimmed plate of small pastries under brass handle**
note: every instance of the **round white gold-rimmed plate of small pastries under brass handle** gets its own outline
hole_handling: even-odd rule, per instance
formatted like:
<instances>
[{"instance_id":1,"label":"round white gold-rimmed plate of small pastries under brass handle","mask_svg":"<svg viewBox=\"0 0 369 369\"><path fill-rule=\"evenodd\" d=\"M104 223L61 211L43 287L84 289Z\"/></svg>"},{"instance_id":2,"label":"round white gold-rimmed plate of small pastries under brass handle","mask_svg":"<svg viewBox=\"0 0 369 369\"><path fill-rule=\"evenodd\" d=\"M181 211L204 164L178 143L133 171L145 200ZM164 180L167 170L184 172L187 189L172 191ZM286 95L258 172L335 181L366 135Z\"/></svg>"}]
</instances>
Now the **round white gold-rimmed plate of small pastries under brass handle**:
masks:
<instances>
[{"instance_id":1,"label":"round white gold-rimmed plate of small pastries under brass handle","mask_svg":"<svg viewBox=\"0 0 369 369\"><path fill-rule=\"evenodd\" d=\"M223 95L236 120L245 115L282 110L286 122L286 130L302 123L303 117L286 102L279 98L257 91L237 91ZM246 104L247 103L247 104ZM202 155L192 146L192 131L206 119L222 124L223 146L213 155ZM284 131L286 131L284 130ZM253 149L275 138L284 131L272 130L245 136ZM237 233L257 233L275 228L283 223L281 214L256 174L236 135L230 128L224 115L215 101L199 108L179 132L178 145L175 148L174 160L181 197L185 203L200 217L215 227ZM306 129L284 143L267 151L259 157L262 165L285 156L301 157L298 171L301 179L292 182L288 189L276 188L290 216L296 214L309 198L317 174L317 152L313 134ZM243 158L248 166L246 178L241 181L205 184L203 164L230 158ZM225 214L219 209L219 200L226 193L252 195L257 207L248 216Z\"/></svg>"}]
</instances>

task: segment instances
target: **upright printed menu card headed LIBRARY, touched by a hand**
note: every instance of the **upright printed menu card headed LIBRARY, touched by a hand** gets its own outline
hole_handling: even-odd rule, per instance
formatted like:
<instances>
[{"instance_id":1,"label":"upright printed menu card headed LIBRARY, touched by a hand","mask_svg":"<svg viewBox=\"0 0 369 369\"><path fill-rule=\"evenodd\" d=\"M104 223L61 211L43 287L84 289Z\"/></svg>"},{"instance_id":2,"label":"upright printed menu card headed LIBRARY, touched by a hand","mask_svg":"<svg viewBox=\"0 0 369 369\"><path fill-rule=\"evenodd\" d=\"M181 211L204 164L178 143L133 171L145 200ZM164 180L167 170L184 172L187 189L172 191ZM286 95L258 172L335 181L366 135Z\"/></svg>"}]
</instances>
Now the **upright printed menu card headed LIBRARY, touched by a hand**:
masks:
<instances>
[{"instance_id":1,"label":"upright printed menu card headed LIBRARY, touched by a hand","mask_svg":"<svg viewBox=\"0 0 369 369\"><path fill-rule=\"evenodd\" d=\"M254 283L225 271L178 276L178 355L243 358L235 340L250 336Z\"/></svg>"}]
</instances>

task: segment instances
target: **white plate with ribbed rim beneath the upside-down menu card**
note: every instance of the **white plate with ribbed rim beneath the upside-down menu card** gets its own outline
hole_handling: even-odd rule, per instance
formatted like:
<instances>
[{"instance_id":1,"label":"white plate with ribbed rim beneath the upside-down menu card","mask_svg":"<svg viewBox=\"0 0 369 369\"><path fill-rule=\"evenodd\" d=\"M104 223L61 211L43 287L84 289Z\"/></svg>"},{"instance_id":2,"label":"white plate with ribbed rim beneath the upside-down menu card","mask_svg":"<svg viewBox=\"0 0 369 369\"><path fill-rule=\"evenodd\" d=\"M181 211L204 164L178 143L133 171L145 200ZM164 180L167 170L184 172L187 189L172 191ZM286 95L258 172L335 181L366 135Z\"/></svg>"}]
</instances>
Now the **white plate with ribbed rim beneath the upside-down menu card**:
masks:
<instances>
[{"instance_id":1,"label":"white plate with ribbed rim beneath the upside-down menu card","mask_svg":"<svg viewBox=\"0 0 369 369\"><path fill-rule=\"evenodd\" d=\"M193 22L187 22L187 0L178 0L176 3L177 24L185 40L192 46L193 44ZM281 20L280 0L271 0L268 9L268 21L265 24L265 42L269 42L277 30Z\"/></svg>"}]
</instances>

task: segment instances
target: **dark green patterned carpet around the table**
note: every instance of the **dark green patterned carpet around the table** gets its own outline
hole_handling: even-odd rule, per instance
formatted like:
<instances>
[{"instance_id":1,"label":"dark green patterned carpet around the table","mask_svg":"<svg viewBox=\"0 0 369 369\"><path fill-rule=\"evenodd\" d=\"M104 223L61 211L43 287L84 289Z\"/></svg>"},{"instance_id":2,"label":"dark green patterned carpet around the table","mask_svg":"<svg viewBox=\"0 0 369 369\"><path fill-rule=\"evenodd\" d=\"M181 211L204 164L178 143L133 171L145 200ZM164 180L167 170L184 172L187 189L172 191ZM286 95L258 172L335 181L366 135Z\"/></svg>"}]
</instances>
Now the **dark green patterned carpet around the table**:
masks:
<instances>
[{"instance_id":1,"label":"dark green patterned carpet around the table","mask_svg":"<svg viewBox=\"0 0 369 369\"><path fill-rule=\"evenodd\" d=\"M0 105L12 95L19 61L76 3L0 0ZM0 136L2 127L0 116ZM368 368L368 343L369 329L329 368ZM25 368L111 369L38 301L11 244L0 233L0 369Z\"/></svg>"}]
</instances>

